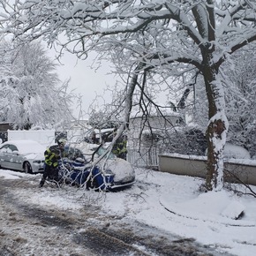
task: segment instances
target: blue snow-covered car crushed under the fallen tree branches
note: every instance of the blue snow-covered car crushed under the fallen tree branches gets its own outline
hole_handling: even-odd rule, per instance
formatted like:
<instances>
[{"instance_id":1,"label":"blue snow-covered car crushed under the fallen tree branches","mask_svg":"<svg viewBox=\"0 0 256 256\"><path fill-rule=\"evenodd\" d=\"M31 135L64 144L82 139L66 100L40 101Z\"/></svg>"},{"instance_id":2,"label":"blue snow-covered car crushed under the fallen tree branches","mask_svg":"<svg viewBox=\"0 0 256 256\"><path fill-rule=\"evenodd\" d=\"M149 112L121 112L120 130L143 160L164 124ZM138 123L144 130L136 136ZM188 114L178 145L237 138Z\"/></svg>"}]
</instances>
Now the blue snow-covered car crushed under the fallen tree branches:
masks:
<instances>
[{"instance_id":1,"label":"blue snow-covered car crushed under the fallen tree branches","mask_svg":"<svg viewBox=\"0 0 256 256\"><path fill-rule=\"evenodd\" d=\"M87 188L94 190L114 191L132 186L135 183L135 172L132 164L123 159L117 158L114 154L107 154L101 161L96 162L95 166L91 162L92 150L81 151L78 148L70 147L66 149L74 154L67 154L61 163L61 175L66 183L75 185L86 185ZM97 161L106 151L100 148L94 156L94 162ZM70 157L69 155L72 155ZM91 175L90 175L91 174Z\"/></svg>"}]
</instances>

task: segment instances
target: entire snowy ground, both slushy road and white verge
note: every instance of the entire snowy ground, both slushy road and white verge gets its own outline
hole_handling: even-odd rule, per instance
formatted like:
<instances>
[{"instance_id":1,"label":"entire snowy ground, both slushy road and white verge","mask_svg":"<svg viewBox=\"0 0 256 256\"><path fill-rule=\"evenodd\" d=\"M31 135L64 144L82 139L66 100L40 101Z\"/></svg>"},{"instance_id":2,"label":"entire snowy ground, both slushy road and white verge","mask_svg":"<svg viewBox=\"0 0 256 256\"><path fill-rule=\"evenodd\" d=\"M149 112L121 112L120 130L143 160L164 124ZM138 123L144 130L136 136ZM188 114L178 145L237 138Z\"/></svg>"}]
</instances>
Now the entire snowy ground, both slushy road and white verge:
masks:
<instances>
[{"instance_id":1,"label":"entire snowy ground, both slushy road and white verge","mask_svg":"<svg viewBox=\"0 0 256 256\"><path fill-rule=\"evenodd\" d=\"M227 191L200 193L200 178L148 169L137 169L136 174L131 189L102 193L68 186L56 189L50 184L39 189L40 174L0 169L0 255L108 255L100 244L115 230L118 237L111 236L106 245L115 245L109 256L255 255L255 198ZM244 216L235 220L241 211ZM31 222L26 222L29 215ZM88 234L103 239L96 245ZM117 240L119 251L115 251ZM183 243L190 254L175 254L174 250L182 250L170 245L170 240ZM197 251L196 243L204 246L198 245ZM157 244L162 245L154 251Z\"/></svg>"}]
</instances>

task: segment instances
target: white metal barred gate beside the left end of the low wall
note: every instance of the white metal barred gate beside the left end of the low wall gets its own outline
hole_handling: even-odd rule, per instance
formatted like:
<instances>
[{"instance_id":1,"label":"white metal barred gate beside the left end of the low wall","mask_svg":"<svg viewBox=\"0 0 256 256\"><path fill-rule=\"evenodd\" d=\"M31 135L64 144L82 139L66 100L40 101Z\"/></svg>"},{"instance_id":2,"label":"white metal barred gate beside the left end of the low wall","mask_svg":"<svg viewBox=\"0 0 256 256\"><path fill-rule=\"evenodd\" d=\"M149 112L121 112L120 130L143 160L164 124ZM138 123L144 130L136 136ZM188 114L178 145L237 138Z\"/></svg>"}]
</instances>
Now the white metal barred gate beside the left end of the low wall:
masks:
<instances>
[{"instance_id":1,"label":"white metal barred gate beside the left end of the low wall","mask_svg":"<svg viewBox=\"0 0 256 256\"><path fill-rule=\"evenodd\" d=\"M128 148L127 161L136 167L158 169L159 149L155 147Z\"/></svg>"}]
</instances>

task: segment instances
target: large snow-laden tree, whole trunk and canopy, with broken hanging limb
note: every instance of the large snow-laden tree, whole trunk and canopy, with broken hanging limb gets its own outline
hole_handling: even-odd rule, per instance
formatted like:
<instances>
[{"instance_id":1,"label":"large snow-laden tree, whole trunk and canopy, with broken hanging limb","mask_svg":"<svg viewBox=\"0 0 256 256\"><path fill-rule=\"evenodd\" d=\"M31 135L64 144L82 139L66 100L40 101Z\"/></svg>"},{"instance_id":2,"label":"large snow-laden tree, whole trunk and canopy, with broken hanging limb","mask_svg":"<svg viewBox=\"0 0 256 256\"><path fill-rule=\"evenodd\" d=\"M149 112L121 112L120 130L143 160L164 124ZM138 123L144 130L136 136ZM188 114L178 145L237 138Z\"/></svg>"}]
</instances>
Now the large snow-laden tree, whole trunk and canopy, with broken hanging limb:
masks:
<instances>
[{"instance_id":1,"label":"large snow-laden tree, whole trunk and canopy, with broken hanging limb","mask_svg":"<svg viewBox=\"0 0 256 256\"><path fill-rule=\"evenodd\" d=\"M165 69L177 75L198 70L208 101L206 187L222 189L222 153L229 124L221 66L230 54L256 40L254 1L18 0L13 7L9 1L1 2L6 11L2 31L20 41L43 37L80 57L100 46L108 46L104 51L119 48L130 56L127 64L136 67L127 86L126 115L139 73ZM124 122L128 121L125 116Z\"/></svg>"}]
</instances>

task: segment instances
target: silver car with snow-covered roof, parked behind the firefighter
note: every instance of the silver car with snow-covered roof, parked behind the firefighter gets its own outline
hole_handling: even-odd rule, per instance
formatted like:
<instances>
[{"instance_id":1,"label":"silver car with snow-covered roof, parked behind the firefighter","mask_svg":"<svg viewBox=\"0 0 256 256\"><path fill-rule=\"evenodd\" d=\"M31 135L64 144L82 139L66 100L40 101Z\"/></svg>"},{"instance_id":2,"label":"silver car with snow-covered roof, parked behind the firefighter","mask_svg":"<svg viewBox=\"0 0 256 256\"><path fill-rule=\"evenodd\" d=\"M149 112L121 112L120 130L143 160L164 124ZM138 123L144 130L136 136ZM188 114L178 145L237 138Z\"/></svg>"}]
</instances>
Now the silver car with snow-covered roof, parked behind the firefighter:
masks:
<instances>
[{"instance_id":1,"label":"silver car with snow-covered roof, parked behind the firefighter","mask_svg":"<svg viewBox=\"0 0 256 256\"><path fill-rule=\"evenodd\" d=\"M0 168L38 173L43 171L45 147L34 140L10 140L0 145Z\"/></svg>"}]
</instances>

